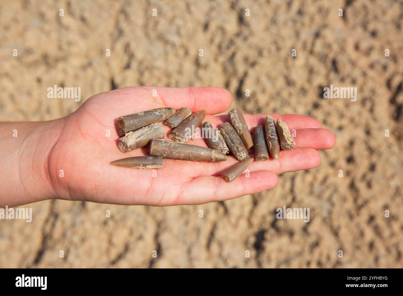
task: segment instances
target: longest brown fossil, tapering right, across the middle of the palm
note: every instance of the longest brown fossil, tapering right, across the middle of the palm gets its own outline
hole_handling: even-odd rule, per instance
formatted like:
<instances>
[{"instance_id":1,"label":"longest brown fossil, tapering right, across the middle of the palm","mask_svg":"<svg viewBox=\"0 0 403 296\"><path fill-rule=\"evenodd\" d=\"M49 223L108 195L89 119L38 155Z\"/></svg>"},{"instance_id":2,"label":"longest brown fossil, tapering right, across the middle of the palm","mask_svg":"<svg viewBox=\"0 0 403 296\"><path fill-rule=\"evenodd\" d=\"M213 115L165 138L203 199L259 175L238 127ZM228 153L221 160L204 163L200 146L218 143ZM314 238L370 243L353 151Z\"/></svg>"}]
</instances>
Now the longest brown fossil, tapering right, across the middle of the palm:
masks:
<instances>
[{"instance_id":1,"label":"longest brown fossil, tapering right, across the middle of the palm","mask_svg":"<svg viewBox=\"0 0 403 296\"><path fill-rule=\"evenodd\" d=\"M220 151L207 147L158 139L151 140L150 155L193 161L224 161L228 158Z\"/></svg>"}]
</instances>

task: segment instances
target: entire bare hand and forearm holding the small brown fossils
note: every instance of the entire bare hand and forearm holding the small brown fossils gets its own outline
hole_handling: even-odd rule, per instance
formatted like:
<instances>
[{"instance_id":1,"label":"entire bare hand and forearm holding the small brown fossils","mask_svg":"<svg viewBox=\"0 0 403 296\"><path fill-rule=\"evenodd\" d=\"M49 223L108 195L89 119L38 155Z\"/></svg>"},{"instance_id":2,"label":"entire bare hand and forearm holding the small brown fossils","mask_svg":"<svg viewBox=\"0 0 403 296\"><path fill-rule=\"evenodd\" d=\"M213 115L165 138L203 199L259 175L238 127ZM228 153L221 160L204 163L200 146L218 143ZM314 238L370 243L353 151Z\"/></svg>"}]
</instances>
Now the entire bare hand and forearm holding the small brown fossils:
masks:
<instances>
[{"instance_id":1,"label":"entire bare hand and forearm holding the small brown fossils","mask_svg":"<svg viewBox=\"0 0 403 296\"><path fill-rule=\"evenodd\" d=\"M153 96L153 89L157 96ZM218 87L125 87L94 95L77 111L57 120L2 122L0 207L46 199L154 206L225 201L273 188L279 174L316 168L320 164L318 150L335 144L332 132L314 118L270 114L296 130L295 148L280 151L277 160L253 161L249 176L243 174L231 183L220 174L237 163L232 155L216 163L164 159L163 168L156 171L110 164L116 159L149 155L148 146L119 151L114 126L119 116L153 108L188 107L192 113L207 110L204 121L219 127L229 121L228 116L212 114L226 111L231 100L231 93ZM244 117L252 131L256 125L264 125L267 115ZM13 137L14 130L17 137ZM172 129L164 126L164 130L165 139L170 140ZM188 143L207 147L204 139ZM249 154L254 156L253 148Z\"/></svg>"}]
</instances>

